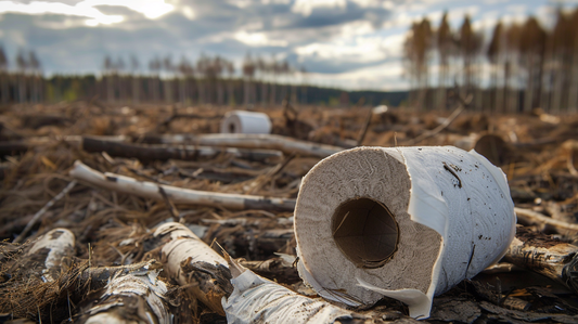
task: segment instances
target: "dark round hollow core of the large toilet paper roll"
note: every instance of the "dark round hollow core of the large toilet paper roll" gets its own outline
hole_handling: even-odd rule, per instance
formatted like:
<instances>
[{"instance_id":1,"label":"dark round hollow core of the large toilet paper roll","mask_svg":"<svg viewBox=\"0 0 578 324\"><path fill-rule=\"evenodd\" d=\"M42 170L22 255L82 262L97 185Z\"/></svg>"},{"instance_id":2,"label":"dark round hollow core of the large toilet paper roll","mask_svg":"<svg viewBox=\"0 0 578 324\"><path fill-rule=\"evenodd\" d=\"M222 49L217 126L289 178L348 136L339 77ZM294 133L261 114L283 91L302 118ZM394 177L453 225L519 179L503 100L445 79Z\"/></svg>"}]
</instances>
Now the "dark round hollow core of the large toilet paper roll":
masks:
<instances>
[{"instance_id":1,"label":"dark round hollow core of the large toilet paper roll","mask_svg":"<svg viewBox=\"0 0 578 324\"><path fill-rule=\"evenodd\" d=\"M380 268L397 249L399 228L385 205L370 198L347 200L335 209L333 239L359 268Z\"/></svg>"}]
</instances>

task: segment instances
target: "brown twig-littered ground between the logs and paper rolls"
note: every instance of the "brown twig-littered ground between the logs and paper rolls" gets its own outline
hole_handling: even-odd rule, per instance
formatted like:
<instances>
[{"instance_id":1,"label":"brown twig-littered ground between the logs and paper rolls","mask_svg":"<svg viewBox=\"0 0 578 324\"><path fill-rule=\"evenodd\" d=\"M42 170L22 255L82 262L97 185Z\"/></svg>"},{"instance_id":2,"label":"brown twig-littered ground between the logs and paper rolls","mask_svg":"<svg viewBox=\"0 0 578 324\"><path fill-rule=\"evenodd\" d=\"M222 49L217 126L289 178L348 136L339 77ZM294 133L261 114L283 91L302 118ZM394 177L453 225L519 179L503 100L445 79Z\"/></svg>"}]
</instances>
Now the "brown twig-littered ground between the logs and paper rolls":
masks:
<instances>
[{"instance_id":1,"label":"brown twig-littered ground between the logs and paper rolls","mask_svg":"<svg viewBox=\"0 0 578 324\"><path fill-rule=\"evenodd\" d=\"M12 243L35 213L73 181L68 171L75 160L101 172L179 187L296 198L300 178L320 158L284 154L249 160L217 154L139 160L89 153L75 141L65 140L66 135L124 135L125 142L146 143L157 134L216 133L220 119L230 109L106 105L98 101L1 107L0 238L3 242L0 243L0 322L12 319L20 319L20 322L41 320L42 323L75 321L76 314L94 294L90 287L84 286L76 287L75 294L48 294L42 289L46 283L30 275L34 262L18 263L30 242L55 228L66 228L75 234L75 262L90 259L91 267L145 260L147 251L142 237L166 221L184 223L207 244L219 243L233 258L265 261L279 258L275 254L295 255L293 213L290 211L170 206L165 200L144 199L81 182L48 208L22 237L22 244ZM539 111L503 116L465 111L440 129L451 112L388 109L371 114L369 107L320 106L256 111L271 117L275 134L342 147L359 144L368 120L362 145L476 147L508 174L516 207L566 223L577 222L578 150L575 141L578 140L578 116L556 117ZM523 219L518 223L530 231L578 243L574 230L541 222L528 223ZM260 274L301 294L314 295L303 285L295 269ZM61 281L65 280L63 273ZM171 290L178 309L175 312L177 322L226 322L224 316L180 296L179 291L178 288ZM509 297L515 297L517 303L506 302ZM363 311L373 312L383 321L413 321L407 317L407 308L391 299ZM518 269L481 273L464 281L436 297L431 319L422 323L576 323L577 314L576 291Z\"/></svg>"}]
</instances>

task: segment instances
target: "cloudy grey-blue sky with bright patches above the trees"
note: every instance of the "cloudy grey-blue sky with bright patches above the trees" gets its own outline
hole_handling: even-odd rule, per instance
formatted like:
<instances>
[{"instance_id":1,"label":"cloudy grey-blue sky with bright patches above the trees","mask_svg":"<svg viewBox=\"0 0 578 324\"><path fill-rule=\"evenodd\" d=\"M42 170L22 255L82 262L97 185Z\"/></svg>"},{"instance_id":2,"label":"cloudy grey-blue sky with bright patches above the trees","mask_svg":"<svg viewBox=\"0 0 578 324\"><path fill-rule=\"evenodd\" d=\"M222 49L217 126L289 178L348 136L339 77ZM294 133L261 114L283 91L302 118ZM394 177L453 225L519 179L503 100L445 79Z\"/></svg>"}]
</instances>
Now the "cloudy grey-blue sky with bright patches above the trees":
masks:
<instances>
[{"instance_id":1,"label":"cloudy grey-blue sky with bright patches above the trees","mask_svg":"<svg viewBox=\"0 0 578 324\"><path fill-rule=\"evenodd\" d=\"M0 1L0 44L11 67L18 50L35 50L46 74L100 73L103 57L201 53L232 60L261 55L305 66L310 82L344 89L404 89L401 44L412 21L434 26L445 10L458 27L470 14L490 30L498 20L537 15L545 25L552 0L61 0Z\"/></svg>"}]
</instances>

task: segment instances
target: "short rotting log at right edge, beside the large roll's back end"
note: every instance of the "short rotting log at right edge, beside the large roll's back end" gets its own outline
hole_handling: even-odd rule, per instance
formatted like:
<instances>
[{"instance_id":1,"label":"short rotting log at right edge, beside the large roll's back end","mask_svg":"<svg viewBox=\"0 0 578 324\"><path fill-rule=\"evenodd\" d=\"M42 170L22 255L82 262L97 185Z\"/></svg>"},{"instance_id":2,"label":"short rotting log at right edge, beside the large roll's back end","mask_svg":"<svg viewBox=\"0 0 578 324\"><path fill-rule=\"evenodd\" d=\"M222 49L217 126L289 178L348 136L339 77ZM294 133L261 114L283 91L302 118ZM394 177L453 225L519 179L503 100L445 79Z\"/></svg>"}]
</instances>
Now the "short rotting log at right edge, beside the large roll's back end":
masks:
<instances>
[{"instance_id":1,"label":"short rotting log at right edge, beside the large roll's back end","mask_svg":"<svg viewBox=\"0 0 578 324\"><path fill-rule=\"evenodd\" d=\"M504 261L561 282L578 291L578 246L517 226Z\"/></svg>"}]
</instances>

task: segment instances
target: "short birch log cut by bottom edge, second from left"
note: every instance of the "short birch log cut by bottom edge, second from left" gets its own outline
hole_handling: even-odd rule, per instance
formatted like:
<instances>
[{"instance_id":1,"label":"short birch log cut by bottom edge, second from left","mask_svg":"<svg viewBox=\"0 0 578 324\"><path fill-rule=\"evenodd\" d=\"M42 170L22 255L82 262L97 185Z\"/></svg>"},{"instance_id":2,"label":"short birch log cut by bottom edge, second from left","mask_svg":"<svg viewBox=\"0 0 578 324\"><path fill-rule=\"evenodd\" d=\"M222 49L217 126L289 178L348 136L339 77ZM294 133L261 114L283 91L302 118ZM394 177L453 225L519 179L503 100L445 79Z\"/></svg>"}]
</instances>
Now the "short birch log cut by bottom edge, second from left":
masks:
<instances>
[{"instance_id":1,"label":"short birch log cut by bottom edge, second from left","mask_svg":"<svg viewBox=\"0 0 578 324\"><path fill-rule=\"evenodd\" d=\"M172 314L166 300L167 286L157 278L160 270L153 260L139 271L115 271L104 293L84 312L79 323L89 324L168 324Z\"/></svg>"}]
</instances>

